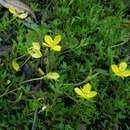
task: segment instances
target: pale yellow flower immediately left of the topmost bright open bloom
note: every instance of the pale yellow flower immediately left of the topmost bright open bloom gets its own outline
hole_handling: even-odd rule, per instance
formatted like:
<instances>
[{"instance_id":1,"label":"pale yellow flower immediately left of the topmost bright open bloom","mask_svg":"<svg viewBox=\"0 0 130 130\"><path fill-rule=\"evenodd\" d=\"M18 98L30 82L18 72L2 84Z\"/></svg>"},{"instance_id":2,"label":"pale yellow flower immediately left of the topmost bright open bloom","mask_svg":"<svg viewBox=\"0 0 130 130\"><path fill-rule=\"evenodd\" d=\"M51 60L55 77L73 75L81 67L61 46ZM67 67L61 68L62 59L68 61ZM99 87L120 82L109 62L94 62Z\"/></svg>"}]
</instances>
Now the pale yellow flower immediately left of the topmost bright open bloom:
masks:
<instances>
[{"instance_id":1,"label":"pale yellow flower immediately left of the topmost bright open bloom","mask_svg":"<svg viewBox=\"0 0 130 130\"><path fill-rule=\"evenodd\" d=\"M28 53L33 57L33 58L40 58L42 57L42 53L40 51L41 47L38 42L33 42L32 47L28 49Z\"/></svg>"}]
</instances>

